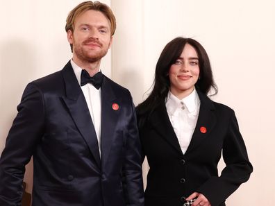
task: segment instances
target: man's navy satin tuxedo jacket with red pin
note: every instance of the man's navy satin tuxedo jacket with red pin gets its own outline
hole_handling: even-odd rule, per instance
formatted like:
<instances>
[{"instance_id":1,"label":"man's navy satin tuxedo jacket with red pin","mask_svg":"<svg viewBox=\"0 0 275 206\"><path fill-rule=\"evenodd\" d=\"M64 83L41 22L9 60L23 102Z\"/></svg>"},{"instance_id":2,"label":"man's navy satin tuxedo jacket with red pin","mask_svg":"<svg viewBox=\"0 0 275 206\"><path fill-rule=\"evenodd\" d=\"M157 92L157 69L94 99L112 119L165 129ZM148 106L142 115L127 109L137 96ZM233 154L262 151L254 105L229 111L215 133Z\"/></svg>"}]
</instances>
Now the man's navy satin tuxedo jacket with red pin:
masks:
<instances>
[{"instance_id":1,"label":"man's navy satin tuxedo jacket with red pin","mask_svg":"<svg viewBox=\"0 0 275 206\"><path fill-rule=\"evenodd\" d=\"M119 108L113 108L117 103ZM101 157L70 62L27 85L0 160L0 205L19 205L33 156L34 206L144 205L131 94L104 76Z\"/></svg>"}]
</instances>

